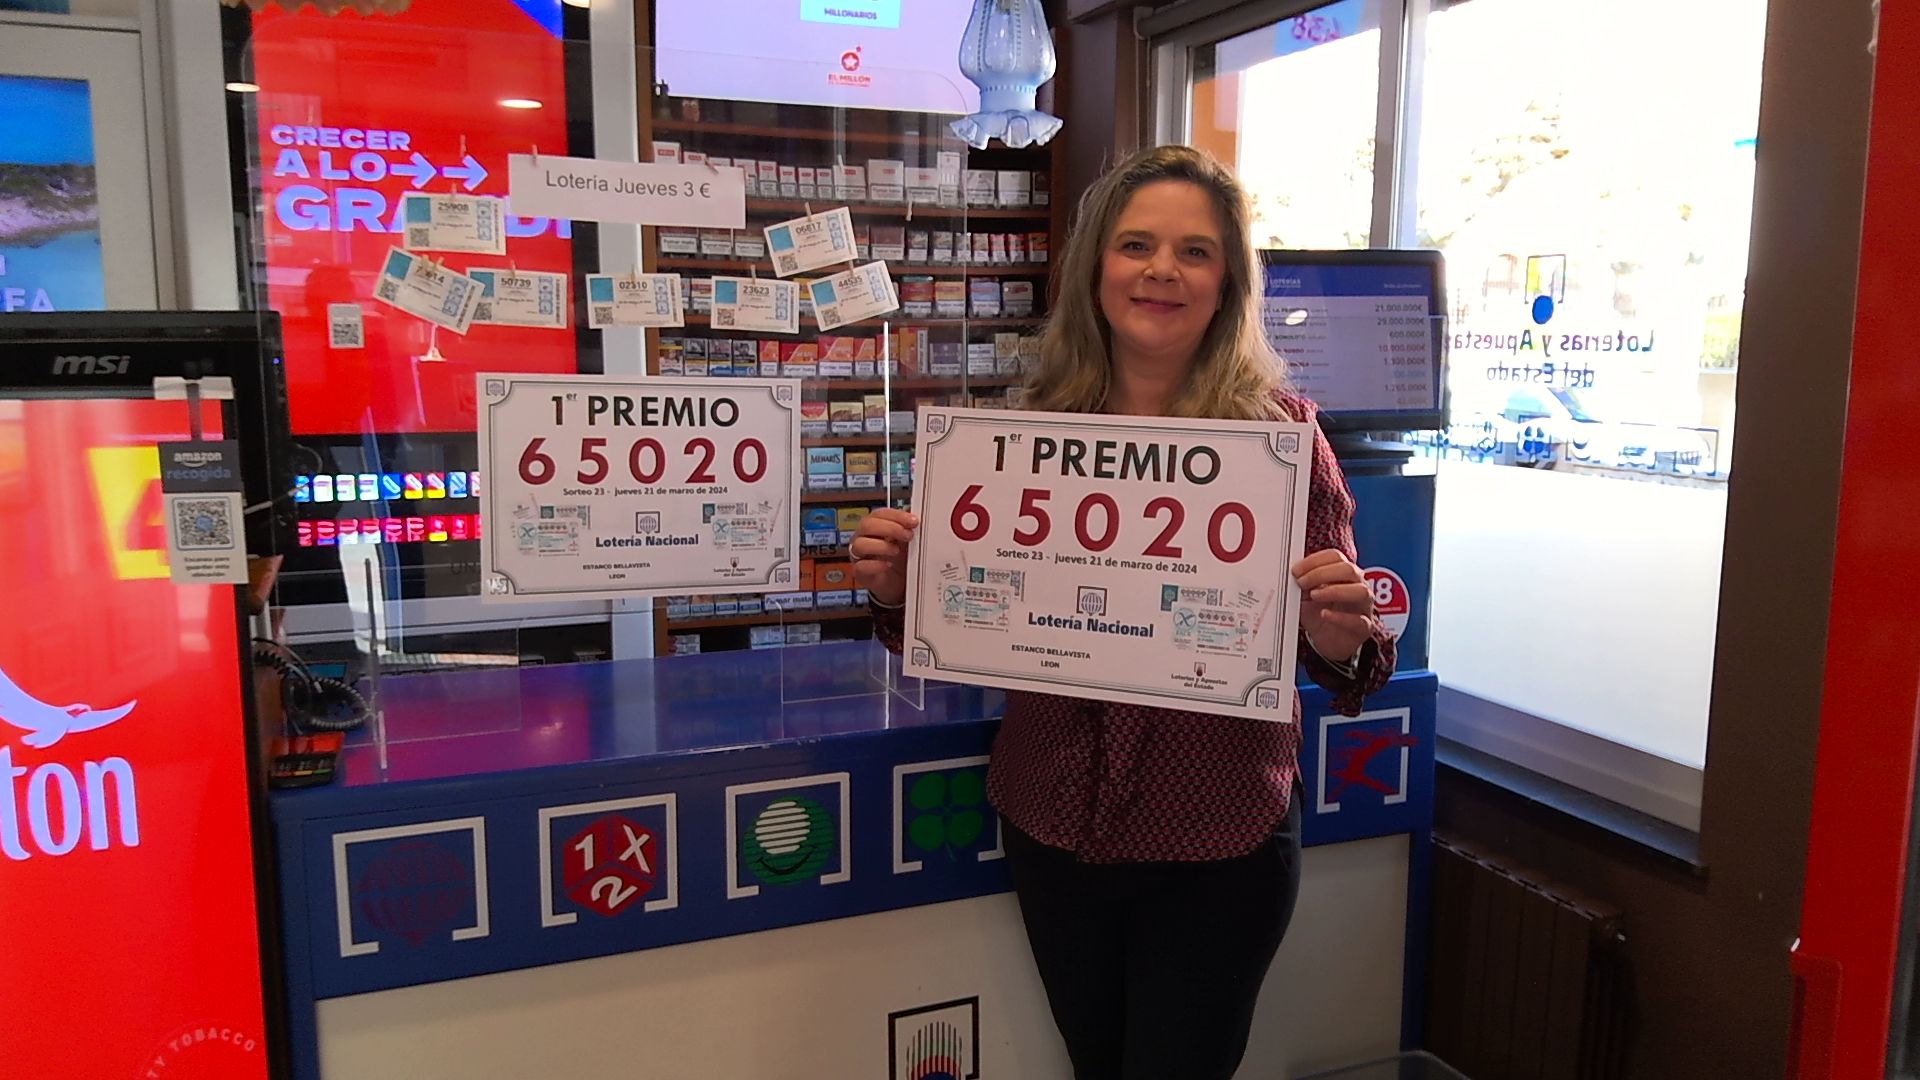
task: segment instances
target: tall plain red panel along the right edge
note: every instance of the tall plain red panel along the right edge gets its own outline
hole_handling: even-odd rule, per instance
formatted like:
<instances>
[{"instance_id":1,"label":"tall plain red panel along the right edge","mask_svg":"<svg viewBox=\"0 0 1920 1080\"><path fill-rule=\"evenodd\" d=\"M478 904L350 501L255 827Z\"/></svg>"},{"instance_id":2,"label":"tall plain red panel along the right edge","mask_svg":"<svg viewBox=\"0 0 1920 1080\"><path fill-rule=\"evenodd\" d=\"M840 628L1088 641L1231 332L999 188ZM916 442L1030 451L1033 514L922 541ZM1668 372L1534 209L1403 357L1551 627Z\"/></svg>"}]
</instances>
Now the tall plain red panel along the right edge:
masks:
<instances>
[{"instance_id":1,"label":"tall plain red panel along the right edge","mask_svg":"<svg viewBox=\"0 0 1920 1080\"><path fill-rule=\"evenodd\" d=\"M1920 377L1912 259L1920 236L1920 10L1880 8L1866 217L1855 307L1847 444L1826 690L1788 1076L1920 1076L1914 1011L1920 890L1914 769L1920 734Z\"/></svg>"}]
</instances>

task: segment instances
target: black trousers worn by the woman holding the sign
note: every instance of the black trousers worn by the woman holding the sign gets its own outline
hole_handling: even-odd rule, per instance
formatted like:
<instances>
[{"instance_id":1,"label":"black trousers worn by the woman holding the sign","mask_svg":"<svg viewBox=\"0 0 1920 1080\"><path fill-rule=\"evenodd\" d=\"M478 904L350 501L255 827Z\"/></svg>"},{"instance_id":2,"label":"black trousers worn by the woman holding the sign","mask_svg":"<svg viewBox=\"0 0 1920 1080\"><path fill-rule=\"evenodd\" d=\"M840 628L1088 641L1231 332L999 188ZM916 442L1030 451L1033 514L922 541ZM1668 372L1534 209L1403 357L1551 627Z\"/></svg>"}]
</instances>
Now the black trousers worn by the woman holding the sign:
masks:
<instances>
[{"instance_id":1,"label":"black trousers worn by the woman holding the sign","mask_svg":"<svg viewBox=\"0 0 1920 1080\"><path fill-rule=\"evenodd\" d=\"M1233 1080L1300 896L1300 794L1236 859L1081 863L1002 821L1075 1080Z\"/></svg>"}]
</instances>

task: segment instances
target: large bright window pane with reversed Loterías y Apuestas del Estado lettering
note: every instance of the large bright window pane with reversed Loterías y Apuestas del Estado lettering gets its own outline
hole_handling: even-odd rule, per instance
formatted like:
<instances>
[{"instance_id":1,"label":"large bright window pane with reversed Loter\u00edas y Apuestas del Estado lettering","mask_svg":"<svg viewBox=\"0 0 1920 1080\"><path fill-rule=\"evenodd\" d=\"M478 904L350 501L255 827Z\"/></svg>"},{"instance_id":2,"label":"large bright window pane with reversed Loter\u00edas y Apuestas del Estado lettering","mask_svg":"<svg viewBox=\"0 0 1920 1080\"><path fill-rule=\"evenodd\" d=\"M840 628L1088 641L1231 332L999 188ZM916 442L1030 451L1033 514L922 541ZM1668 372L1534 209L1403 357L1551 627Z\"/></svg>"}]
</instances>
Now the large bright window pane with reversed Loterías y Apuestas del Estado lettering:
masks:
<instances>
[{"instance_id":1,"label":"large bright window pane with reversed Loter\u00edas y Apuestas del Estado lettering","mask_svg":"<svg viewBox=\"0 0 1920 1080\"><path fill-rule=\"evenodd\" d=\"M1500 715L1692 769L1764 17L1764 0L1436 2L1409 65L1400 242L1448 254L1453 298L1453 429L1425 446L1432 667Z\"/></svg>"}]
</instances>

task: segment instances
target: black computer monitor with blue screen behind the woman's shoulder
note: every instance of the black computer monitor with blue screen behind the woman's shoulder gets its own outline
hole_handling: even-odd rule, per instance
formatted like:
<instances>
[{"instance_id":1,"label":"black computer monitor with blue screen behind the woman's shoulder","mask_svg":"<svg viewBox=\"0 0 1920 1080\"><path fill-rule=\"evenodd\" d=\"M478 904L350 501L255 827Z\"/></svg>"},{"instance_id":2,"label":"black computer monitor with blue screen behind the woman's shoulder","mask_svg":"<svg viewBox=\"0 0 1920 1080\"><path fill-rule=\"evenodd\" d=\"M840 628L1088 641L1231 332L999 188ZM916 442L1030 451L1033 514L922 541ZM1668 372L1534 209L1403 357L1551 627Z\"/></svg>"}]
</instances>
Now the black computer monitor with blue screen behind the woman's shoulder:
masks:
<instances>
[{"instance_id":1,"label":"black computer monitor with blue screen behind the woman's shoulder","mask_svg":"<svg viewBox=\"0 0 1920 1080\"><path fill-rule=\"evenodd\" d=\"M1329 432L1446 427L1440 252L1260 252L1261 325Z\"/></svg>"}]
</instances>

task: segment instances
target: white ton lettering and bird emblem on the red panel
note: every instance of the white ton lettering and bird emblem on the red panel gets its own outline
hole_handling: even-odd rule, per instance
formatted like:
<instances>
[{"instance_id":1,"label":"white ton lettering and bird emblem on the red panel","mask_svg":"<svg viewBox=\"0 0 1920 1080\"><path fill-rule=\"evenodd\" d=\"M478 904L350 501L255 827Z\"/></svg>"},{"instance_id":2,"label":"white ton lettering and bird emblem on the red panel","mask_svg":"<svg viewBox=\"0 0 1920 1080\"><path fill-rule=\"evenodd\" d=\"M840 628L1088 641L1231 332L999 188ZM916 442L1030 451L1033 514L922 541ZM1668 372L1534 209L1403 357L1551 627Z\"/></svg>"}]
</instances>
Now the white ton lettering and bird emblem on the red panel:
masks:
<instances>
[{"instance_id":1,"label":"white ton lettering and bird emblem on the red panel","mask_svg":"<svg viewBox=\"0 0 1920 1080\"><path fill-rule=\"evenodd\" d=\"M138 701L111 709L88 703L52 705L27 694L0 671L0 736L8 728L31 751L46 751L63 738L92 732L132 713ZM0 855L15 863L36 855L67 855L84 842L92 851L115 844L140 846L140 805L132 765L125 757L83 761L79 773L60 761L35 761L0 744Z\"/></svg>"}]
</instances>

